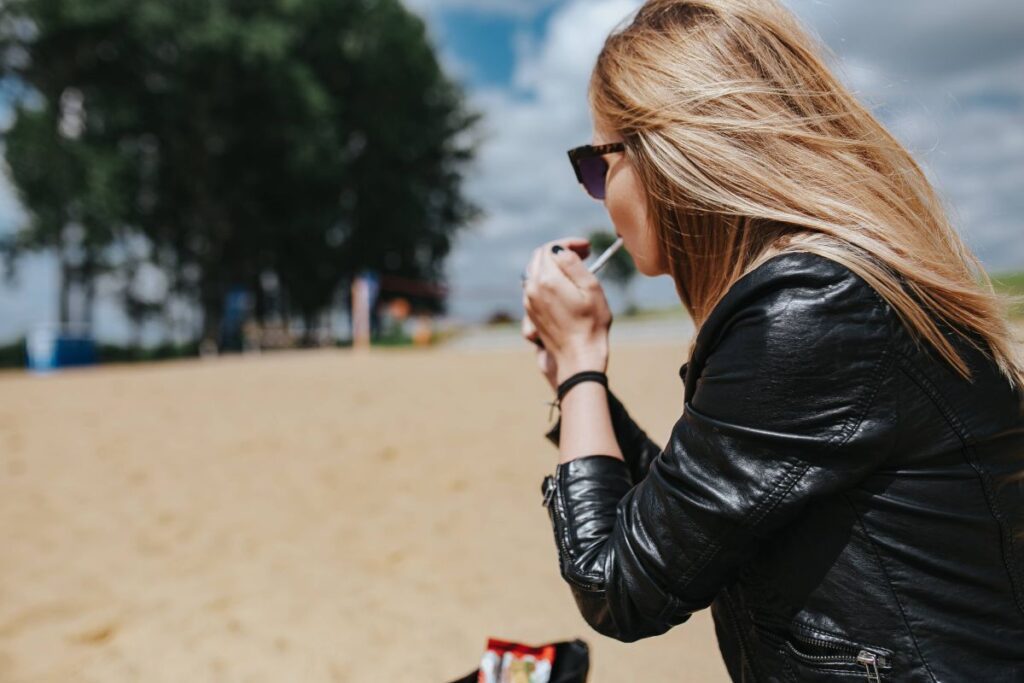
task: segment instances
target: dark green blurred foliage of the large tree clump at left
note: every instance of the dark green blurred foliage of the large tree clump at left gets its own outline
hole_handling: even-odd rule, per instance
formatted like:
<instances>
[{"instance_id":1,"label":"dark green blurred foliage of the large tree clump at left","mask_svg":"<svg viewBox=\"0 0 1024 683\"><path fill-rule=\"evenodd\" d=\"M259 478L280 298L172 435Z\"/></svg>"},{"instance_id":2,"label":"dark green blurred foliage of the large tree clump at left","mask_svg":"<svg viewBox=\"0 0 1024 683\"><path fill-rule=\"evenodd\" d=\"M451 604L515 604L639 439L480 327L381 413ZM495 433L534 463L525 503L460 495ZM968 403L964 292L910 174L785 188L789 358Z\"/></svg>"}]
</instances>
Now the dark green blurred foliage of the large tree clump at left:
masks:
<instances>
[{"instance_id":1,"label":"dark green blurred foliage of the large tree clump at left","mask_svg":"<svg viewBox=\"0 0 1024 683\"><path fill-rule=\"evenodd\" d=\"M0 56L16 245L141 236L205 336L266 272L307 321L364 269L440 284L475 215L475 115L397 0L8 0Z\"/></svg>"}]
</instances>

